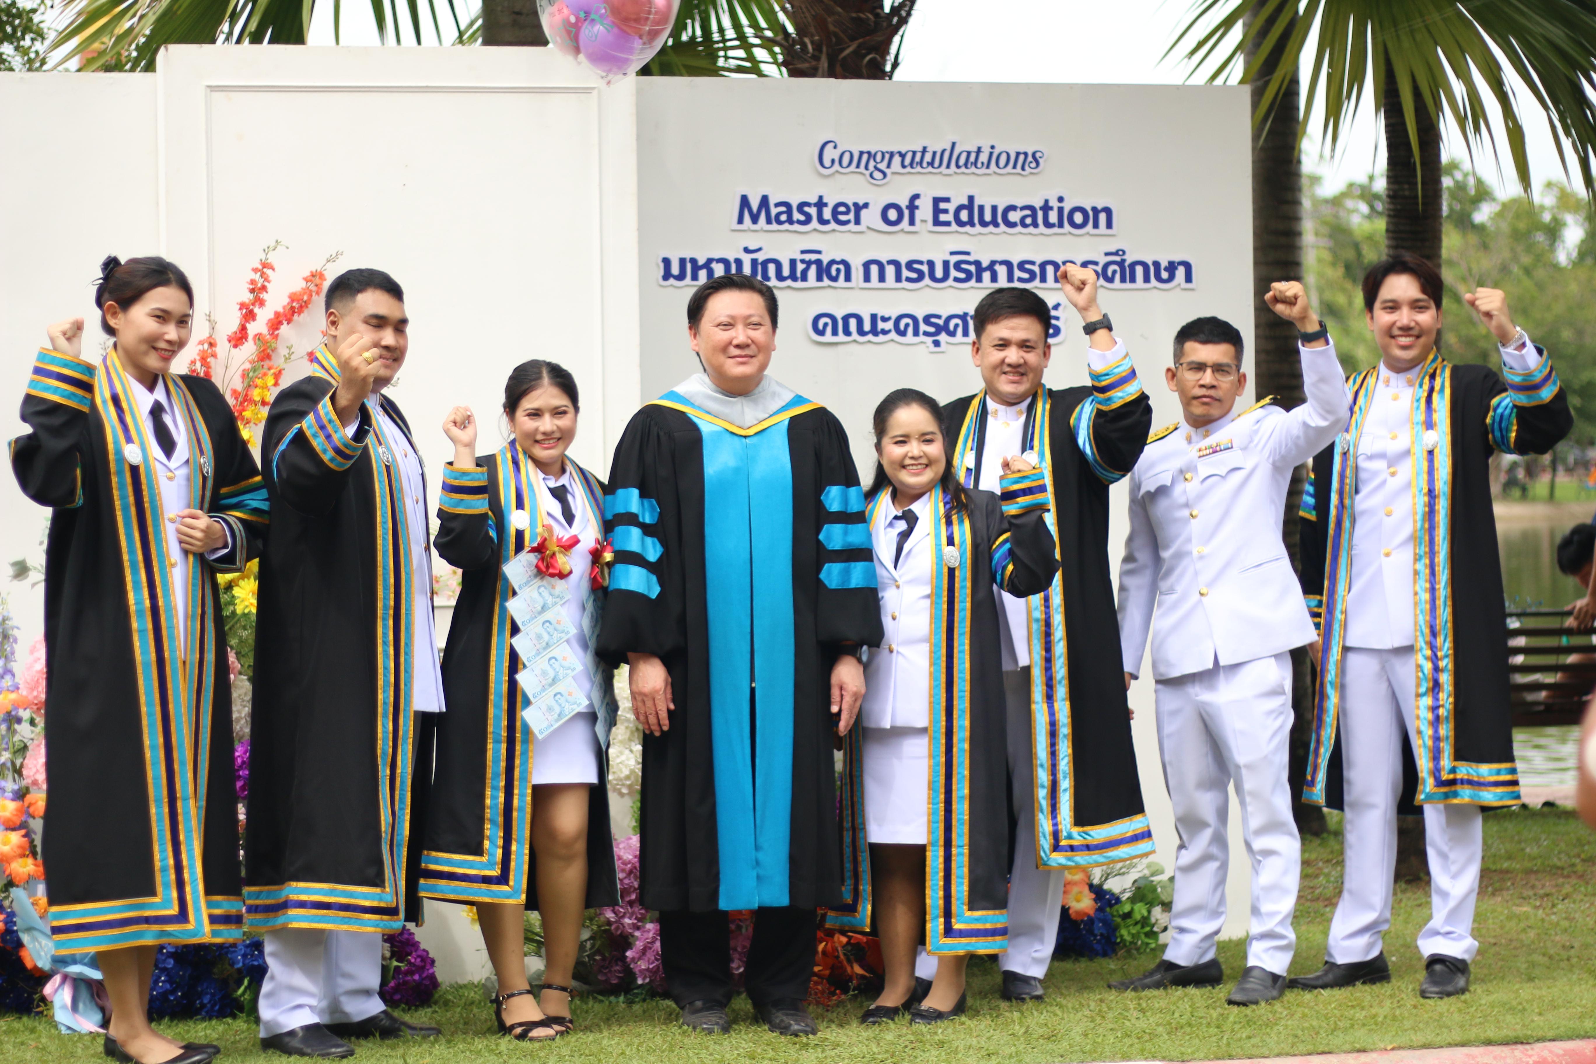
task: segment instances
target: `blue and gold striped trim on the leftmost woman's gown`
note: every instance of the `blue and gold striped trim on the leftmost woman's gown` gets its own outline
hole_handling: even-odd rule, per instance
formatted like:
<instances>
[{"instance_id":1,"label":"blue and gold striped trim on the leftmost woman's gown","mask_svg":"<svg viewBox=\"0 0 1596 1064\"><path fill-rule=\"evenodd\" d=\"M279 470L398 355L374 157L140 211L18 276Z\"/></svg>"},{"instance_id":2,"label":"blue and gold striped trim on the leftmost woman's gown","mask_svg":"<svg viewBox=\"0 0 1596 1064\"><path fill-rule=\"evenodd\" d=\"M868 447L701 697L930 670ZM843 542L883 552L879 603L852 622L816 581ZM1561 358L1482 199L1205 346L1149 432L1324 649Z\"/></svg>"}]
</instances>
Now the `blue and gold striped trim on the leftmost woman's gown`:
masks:
<instances>
[{"instance_id":1,"label":"blue and gold striped trim on the leftmost woman's gown","mask_svg":"<svg viewBox=\"0 0 1596 1064\"><path fill-rule=\"evenodd\" d=\"M211 574L203 558L193 558L188 579L182 587L174 584L171 574L180 558L172 557L166 541L161 490L150 458L155 451L134 384L115 348L91 372L93 416L104 426L107 517L117 522L126 581L155 893L136 901L54 906L51 930L72 951L239 938L243 900L207 897L201 866L217 654ZM188 504L209 510L215 490L211 434L182 380L166 375L166 388L188 434L193 469ZM241 538L235 542L243 547ZM187 595L182 635L174 595Z\"/></svg>"}]
</instances>

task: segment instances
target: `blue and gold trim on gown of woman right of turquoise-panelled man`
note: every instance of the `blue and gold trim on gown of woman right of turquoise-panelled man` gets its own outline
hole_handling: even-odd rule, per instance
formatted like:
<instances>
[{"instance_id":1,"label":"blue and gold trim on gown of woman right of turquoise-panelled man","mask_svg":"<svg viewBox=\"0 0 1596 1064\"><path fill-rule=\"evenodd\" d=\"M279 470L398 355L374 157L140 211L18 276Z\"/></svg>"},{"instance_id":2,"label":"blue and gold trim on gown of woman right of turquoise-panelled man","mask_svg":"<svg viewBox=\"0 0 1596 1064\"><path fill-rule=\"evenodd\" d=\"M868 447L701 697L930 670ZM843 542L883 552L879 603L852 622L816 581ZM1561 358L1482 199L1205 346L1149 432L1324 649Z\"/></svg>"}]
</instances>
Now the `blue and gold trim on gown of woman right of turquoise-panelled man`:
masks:
<instances>
[{"instance_id":1,"label":"blue and gold trim on gown of woman right of turquoise-panelled man","mask_svg":"<svg viewBox=\"0 0 1596 1064\"><path fill-rule=\"evenodd\" d=\"M891 520L887 491L870 499L865 523ZM942 487L932 488L930 514L930 705L927 719L929 786L926 796L926 952L1002 952L1009 948L1009 911L969 906L970 775L970 606L972 581L996 581L1012 565L1007 536L988 558L970 557L969 512L951 512ZM943 547L959 563L943 562ZM830 927L868 930L871 914L870 852L865 837L863 726L847 732L843 767L843 904L827 914Z\"/></svg>"}]
</instances>

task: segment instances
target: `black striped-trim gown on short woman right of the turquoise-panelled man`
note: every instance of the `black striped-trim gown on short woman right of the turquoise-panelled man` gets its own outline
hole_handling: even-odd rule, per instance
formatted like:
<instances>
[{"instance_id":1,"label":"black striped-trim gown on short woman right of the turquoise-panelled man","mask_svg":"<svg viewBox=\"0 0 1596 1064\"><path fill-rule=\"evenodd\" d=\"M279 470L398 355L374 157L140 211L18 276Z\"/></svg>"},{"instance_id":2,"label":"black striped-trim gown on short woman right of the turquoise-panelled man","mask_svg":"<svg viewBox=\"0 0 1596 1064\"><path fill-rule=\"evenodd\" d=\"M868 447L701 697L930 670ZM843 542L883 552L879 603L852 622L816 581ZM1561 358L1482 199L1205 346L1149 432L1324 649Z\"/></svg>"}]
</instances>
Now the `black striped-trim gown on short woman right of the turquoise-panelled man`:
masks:
<instances>
[{"instance_id":1,"label":"black striped-trim gown on short woman right of the turquoise-panelled man","mask_svg":"<svg viewBox=\"0 0 1596 1064\"><path fill-rule=\"evenodd\" d=\"M953 512L935 488L930 512L930 780L926 815L926 951L1002 952L1009 948L1009 745L998 644L998 593L1037 595L1058 571L1041 471L1002 479L1002 498L969 491ZM867 523L892 507L883 491ZM946 565L945 550L958 552ZM873 651L884 652L884 651ZM847 735L843 764L843 869L847 903L830 927L871 927L870 839L865 833L863 729Z\"/></svg>"}]
</instances>

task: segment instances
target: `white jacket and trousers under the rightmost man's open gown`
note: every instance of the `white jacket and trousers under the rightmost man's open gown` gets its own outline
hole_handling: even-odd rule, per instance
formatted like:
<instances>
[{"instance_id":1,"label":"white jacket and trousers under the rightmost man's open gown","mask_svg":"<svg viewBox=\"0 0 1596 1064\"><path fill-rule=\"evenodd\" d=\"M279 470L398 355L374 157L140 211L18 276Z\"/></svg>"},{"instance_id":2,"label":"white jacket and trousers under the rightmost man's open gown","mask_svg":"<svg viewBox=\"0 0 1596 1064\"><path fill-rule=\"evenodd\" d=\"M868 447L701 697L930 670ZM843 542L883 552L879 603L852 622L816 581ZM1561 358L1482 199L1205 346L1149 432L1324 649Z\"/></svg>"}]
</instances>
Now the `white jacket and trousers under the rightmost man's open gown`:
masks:
<instances>
[{"instance_id":1,"label":"white jacket and trousers under the rightmost man's open gown","mask_svg":"<svg viewBox=\"0 0 1596 1064\"><path fill-rule=\"evenodd\" d=\"M1534 372L1540 353L1521 330L1502 362ZM1352 573L1342 652L1341 767L1342 849L1347 873L1329 922L1326 960L1358 964L1384 948L1396 871L1396 804L1401 798L1403 732L1414 735L1412 386L1417 368L1384 364L1357 439L1352 496ZM1419 447L1427 447L1419 440ZM1430 922L1419 952L1473 960L1475 897L1483 855L1481 809L1425 804Z\"/></svg>"}]
</instances>

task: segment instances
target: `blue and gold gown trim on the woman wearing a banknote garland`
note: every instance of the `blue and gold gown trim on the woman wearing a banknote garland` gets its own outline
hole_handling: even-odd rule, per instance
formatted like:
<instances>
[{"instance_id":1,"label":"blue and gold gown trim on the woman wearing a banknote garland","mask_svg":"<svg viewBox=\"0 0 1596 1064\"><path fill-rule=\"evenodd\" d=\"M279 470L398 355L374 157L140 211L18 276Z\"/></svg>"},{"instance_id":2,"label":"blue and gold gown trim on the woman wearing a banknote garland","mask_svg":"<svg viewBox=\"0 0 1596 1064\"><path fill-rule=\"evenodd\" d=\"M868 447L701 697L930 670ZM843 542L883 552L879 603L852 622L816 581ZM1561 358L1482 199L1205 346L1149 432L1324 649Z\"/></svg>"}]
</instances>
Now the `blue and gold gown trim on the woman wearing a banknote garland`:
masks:
<instances>
[{"instance_id":1,"label":"blue and gold gown trim on the woman wearing a banknote garland","mask_svg":"<svg viewBox=\"0 0 1596 1064\"><path fill-rule=\"evenodd\" d=\"M595 534L603 536L603 493L591 472L570 458L565 459L581 485L587 520ZM543 528L543 502L538 495L538 467L516 440L493 456L498 480L503 531L488 517L488 530L500 546L500 565L523 554L538 541ZM479 466L448 466L444 474L442 507L456 514L490 514L488 471ZM517 528L509 515L527 514L527 528ZM571 566L583 558L571 555ZM488 654L488 713L484 734L487 750L485 817L482 849L477 853L421 853L421 893L452 901L522 901L527 897L527 857L531 852L531 759L533 731L522 718L525 696L516 683L528 662L520 660L509 636L512 621L509 600L516 593L503 571L498 574L496 606ZM602 608L602 597L598 600ZM589 651L591 652L591 651ZM594 686L597 691L597 683Z\"/></svg>"}]
</instances>

